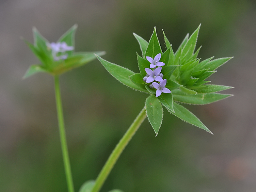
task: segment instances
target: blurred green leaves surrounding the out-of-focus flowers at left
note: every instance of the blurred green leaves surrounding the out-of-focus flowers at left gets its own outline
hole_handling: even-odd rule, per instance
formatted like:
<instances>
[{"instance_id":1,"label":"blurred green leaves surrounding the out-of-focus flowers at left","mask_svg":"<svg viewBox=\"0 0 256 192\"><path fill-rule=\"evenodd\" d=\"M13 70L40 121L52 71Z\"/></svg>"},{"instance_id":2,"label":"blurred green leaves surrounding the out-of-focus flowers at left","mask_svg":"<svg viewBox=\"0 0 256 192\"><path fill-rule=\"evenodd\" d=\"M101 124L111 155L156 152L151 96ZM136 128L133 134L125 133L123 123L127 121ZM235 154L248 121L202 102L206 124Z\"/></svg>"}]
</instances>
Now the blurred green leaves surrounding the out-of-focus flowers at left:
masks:
<instances>
[{"instance_id":1,"label":"blurred green leaves surrounding the out-of-focus flowers at left","mask_svg":"<svg viewBox=\"0 0 256 192\"><path fill-rule=\"evenodd\" d=\"M77 25L72 26L63 34L57 42L65 42L68 46L74 47L74 35ZM54 60L52 50L47 46L49 41L46 40L36 28L33 28L34 44L25 40L25 43L32 52L39 58L41 64L31 65L23 78L27 78L37 72L47 72L52 75L59 75L73 68L80 67L96 58L94 54L104 55L105 52L78 52L66 51L67 58Z\"/></svg>"}]
</instances>

